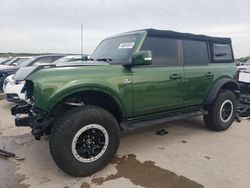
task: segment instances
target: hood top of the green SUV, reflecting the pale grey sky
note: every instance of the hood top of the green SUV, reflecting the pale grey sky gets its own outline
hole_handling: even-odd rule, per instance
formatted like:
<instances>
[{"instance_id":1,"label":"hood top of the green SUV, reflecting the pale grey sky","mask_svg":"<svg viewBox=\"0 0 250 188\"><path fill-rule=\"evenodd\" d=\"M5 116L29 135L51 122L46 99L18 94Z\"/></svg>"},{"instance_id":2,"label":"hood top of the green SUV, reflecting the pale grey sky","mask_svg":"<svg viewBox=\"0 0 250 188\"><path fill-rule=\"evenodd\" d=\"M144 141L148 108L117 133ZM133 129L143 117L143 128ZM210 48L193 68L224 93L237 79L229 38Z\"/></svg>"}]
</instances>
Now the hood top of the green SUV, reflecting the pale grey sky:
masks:
<instances>
[{"instance_id":1,"label":"hood top of the green SUV, reflecting the pale grey sky","mask_svg":"<svg viewBox=\"0 0 250 188\"><path fill-rule=\"evenodd\" d=\"M47 65L39 65L39 66L30 66L30 67L23 67L20 68L16 74L14 75L14 80L16 81L23 81L31 74L41 70L41 69L48 69L48 68L56 68L56 67L77 67L77 66L98 66L98 65L109 65L106 62L100 61L72 61L72 62L65 62L65 63L58 63L58 64L47 64Z\"/></svg>"}]
</instances>

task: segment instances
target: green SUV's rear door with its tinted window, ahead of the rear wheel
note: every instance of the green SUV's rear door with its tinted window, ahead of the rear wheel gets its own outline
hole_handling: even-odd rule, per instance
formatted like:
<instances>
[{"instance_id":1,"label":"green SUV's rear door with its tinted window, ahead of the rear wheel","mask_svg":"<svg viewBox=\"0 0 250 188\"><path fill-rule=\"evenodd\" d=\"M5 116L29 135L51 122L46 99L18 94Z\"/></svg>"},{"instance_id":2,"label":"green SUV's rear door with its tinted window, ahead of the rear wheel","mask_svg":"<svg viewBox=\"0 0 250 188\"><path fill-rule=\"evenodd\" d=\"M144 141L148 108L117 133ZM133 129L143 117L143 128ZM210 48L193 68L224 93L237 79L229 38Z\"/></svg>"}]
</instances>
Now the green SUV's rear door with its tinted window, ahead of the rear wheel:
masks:
<instances>
[{"instance_id":1,"label":"green SUV's rear door with its tinted window, ahead of the rear wheel","mask_svg":"<svg viewBox=\"0 0 250 188\"><path fill-rule=\"evenodd\" d=\"M182 40L184 58L184 106L201 105L214 81L206 41Z\"/></svg>"}]
</instances>

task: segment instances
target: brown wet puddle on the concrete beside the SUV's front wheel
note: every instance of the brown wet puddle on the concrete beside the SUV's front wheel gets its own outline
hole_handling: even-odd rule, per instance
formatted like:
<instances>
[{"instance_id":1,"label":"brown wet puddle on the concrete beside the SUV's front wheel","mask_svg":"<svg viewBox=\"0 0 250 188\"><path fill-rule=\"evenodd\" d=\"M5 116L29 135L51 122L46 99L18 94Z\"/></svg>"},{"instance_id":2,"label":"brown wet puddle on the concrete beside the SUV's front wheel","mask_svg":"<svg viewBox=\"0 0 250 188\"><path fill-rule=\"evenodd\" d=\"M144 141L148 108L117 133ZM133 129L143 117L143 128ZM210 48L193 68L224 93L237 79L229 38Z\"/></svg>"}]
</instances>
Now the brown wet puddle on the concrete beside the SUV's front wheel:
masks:
<instances>
[{"instance_id":1,"label":"brown wet puddle on the concrete beside the SUV's front wheel","mask_svg":"<svg viewBox=\"0 0 250 188\"><path fill-rule=\"evenodd\" d=\"M133 184L146 188L202 188L203 185L192 181L184 176L178 176L174 172L160 168L153 161L140 162L136 156L129 154L121 158L115 157L112 164L116 164L116 174L92 179L92 183L102 185L106 181L127 178Z\"/></svg>"}]
</instances>

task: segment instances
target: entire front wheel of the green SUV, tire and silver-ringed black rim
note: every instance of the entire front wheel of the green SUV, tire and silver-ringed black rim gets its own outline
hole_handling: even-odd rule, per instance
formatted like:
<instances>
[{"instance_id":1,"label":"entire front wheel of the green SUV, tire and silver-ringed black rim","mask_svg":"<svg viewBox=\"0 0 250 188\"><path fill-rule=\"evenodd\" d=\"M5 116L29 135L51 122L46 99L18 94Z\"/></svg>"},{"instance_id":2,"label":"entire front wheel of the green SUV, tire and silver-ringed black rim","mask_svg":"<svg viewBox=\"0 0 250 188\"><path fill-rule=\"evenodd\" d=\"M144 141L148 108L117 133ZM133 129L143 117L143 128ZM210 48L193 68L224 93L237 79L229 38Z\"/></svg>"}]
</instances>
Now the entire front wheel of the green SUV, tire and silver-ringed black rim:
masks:
<instances>
[{"instance_id":1,"label":"entire front wheel of the green SUV, tire and silver-ringed black rim","mask_svg":"<svg viewBox=\"0 0 250 188\"><path fill-rule=\"evenodd\" d=\"M116 119L97 106L66 112L52 127L50 151L56 164L76 177L104 168L116 153L120 129Z\"/></svg>"}]
</instances>

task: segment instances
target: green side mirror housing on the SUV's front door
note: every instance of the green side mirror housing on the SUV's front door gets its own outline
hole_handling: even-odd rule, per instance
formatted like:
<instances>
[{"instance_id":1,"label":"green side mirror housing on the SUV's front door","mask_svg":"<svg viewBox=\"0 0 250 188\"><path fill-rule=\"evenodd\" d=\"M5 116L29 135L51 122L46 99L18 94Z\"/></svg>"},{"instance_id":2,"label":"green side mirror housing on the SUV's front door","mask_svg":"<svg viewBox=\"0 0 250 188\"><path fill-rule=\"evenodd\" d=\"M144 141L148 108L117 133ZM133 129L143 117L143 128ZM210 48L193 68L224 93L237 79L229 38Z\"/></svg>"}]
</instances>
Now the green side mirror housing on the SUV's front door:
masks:
<instances>
[{"instance_id":1,"label":"green side mirror housing on the SUV's front door","mask_svg":"<svg viewBox=\"0 0 250 188\"><path fill-rule=\"evenodd\" d=\"M151 51L139 51L132 54L132 65L151 65L151 64L152 64Z\"/></svg>"}]
</instances>

